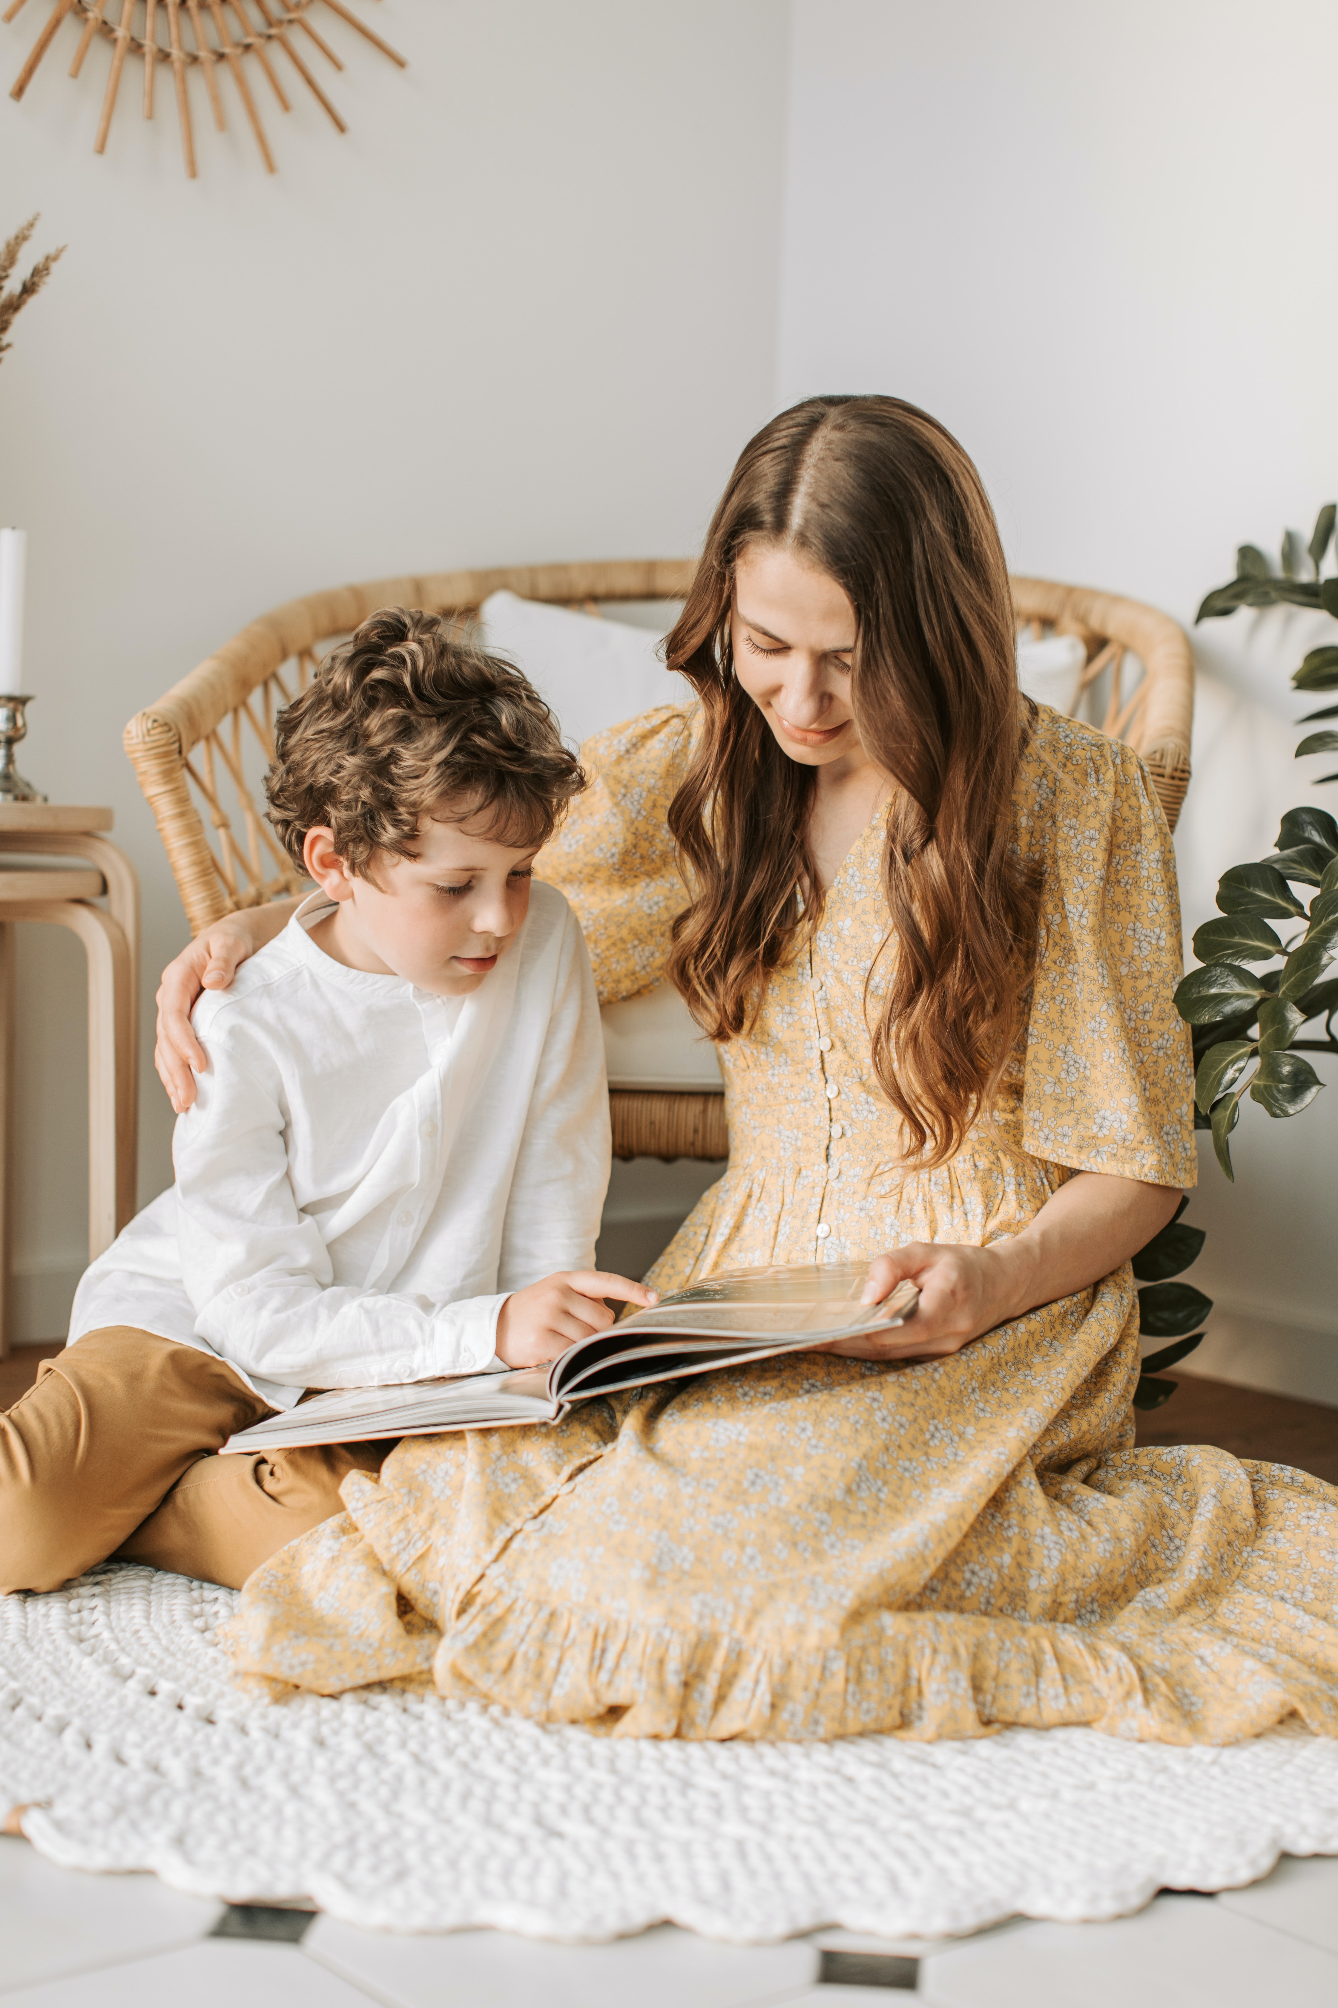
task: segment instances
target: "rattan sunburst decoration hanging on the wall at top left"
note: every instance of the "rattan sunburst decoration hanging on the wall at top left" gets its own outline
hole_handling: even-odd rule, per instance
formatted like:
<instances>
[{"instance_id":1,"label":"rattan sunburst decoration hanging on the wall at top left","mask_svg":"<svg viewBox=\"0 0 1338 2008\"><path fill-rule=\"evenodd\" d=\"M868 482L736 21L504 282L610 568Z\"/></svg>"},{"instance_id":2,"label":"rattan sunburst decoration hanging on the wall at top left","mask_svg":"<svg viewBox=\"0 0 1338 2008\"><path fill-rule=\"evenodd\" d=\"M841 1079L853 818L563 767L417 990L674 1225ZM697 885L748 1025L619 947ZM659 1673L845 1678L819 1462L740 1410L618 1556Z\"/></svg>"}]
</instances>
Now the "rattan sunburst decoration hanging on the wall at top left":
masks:
<instances>
[{"instance_id":1,"label":"rattan sunburst decoration hanging on the wall at top left","mask_svg":"<svg viewBox=\"0 0 1338 2008\"><path fill-rule=\"evenodd\" d=\"M12 0L10 8L0 18L14 20L26 4L28 0ZM106 149L106 135L112 127L116 96L120 92L120 72L124 70L126 56L138 56L144 64L144 118L152 118L154 78L158 66L166 64L173 72L173 82L177 86L177 118L181 124L181 155L187 175L193 181L195 133L191 127L191 94L187 88L187 80L193 70L203 76L209 106L219 133L227 131L227 112L223 106L223 92L219 90L219 72L227 70L231 74L247 114L247 122L255 133L255 143L261 149L261 159L273 175L275 157L269 149L265 127L261 124L261 112L255 102L255 92L251 90L251 78L263 70L281 110L291 110L293 106L283 88L279 70L271 60L275 54L281 52L287 56L291 68L313 92L335 127L341 133L347 133L343 118L321 90L321 84L307 66L305 54L301 54L297 46L297 38L301 36L303 50L313 46L321 58L331 62L337 70L343 68L335 50L309 18L317 6L325 6L331 14L339 14L339 18L351 28L357 28L357 32L371 42L373 48L379 48L383 56L397 62L401 70L407 66L405 58L393 50L389 42L383 42L379 34L373 34L367 22L359 20L359 16L347 8L343 0L118 0L118 4L116 0L54 0L48 18L42 24L42 32L28 52L28 60L14 78L10 96L22 98L42 56L56 40L62 22L68 20L76 26L82 22L78 48L74 50L74 60L70 62L70 76L78 76L84 66L84 56L96 38L112 44L112 66L106 78L106 92L102 96L98 135L92 143L94 153L102 153ZM209 32L211 28L213 38ZM247 70L251 70L251 76Z\"/></svg>"}]
</instances>

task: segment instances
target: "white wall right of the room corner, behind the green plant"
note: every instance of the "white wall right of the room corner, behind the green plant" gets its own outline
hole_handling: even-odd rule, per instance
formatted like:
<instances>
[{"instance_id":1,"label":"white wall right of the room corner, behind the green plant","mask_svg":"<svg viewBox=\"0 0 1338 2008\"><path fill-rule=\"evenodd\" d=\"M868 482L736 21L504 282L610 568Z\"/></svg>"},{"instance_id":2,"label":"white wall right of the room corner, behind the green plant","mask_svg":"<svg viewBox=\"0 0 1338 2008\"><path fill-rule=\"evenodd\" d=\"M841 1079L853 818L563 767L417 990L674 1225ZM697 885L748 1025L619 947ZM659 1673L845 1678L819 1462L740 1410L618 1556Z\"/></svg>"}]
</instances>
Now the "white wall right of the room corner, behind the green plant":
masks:
<instances>
[{"instance_id":1,"label":"white wall right of the room corner, behind the green plant","mask_svg":"<svg viewBox=\"0 0 1338 2008\"><path fill-rule=\"evenodd\" d=\"M977 458L1015 570L1186 624L1238 542L1310 532L1338 490L1328 0L796 0L792 32L778 406L911 398ZM1292 763L1304 620L1196 647L1192 926L1284 807L1338 807ZM1204 1161L1204 1371L1338 1402L1336 1104L1250 1108L1234 1189Z\"/></svg>"}]
</instances>

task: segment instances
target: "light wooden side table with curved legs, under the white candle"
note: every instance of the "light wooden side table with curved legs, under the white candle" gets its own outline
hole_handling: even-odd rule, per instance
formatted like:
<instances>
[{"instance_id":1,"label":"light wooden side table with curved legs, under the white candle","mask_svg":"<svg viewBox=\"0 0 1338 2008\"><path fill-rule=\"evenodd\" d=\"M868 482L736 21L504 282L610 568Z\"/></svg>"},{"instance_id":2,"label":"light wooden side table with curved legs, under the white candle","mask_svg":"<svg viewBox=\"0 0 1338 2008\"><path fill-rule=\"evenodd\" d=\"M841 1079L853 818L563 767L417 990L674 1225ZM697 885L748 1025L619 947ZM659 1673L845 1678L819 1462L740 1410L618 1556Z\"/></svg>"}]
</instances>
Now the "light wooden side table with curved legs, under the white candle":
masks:
<instances>
[{"instance_id":1,"label":"light wooden side table with curved legs, under the white candle","mask_svg":"<svg viewBox=\"0 0 1338 2008\"><path fill-rule=\"evenodd\" d=\"M110 827L110 809L0 803L0 1359L12 1339L14 922L70 928L88 958L88 1255L100 1255L134 1213L138 880L108 841ZM34 855L72 863L30 863ZM100 898L106 912L92 904Z\"/></svg>"}]
</instances>

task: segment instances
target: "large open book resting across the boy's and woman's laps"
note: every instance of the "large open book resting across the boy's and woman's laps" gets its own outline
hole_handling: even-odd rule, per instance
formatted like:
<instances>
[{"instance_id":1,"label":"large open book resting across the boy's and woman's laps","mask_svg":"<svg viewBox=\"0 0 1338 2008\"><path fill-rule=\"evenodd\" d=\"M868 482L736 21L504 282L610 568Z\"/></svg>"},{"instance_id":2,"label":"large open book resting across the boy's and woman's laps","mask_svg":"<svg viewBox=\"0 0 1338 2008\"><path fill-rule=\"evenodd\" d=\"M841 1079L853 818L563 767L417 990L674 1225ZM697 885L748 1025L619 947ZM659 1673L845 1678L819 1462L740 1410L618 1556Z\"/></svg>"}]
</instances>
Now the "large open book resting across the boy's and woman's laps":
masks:
<instances>
[{"instance_id":1,"label":"large open book resting across the boy's and woman's laps","mask_svg":"<svg viewBox=\"0 0 1338 2008\"><path fill-rule=\"evenodd\" d=\"M453 1373L399 1388L337 1388L239 1430L223 1450L297 1450L558 1422L572 1402L614 1388L710 1373L905 1325L919 1303L915 1283L899 1283L883 1303L861 1303L867 1281L869 1263L722 1269L662 1297L650 1311L578 1339L550 1365Z\"/></svg>"}]
</instances>

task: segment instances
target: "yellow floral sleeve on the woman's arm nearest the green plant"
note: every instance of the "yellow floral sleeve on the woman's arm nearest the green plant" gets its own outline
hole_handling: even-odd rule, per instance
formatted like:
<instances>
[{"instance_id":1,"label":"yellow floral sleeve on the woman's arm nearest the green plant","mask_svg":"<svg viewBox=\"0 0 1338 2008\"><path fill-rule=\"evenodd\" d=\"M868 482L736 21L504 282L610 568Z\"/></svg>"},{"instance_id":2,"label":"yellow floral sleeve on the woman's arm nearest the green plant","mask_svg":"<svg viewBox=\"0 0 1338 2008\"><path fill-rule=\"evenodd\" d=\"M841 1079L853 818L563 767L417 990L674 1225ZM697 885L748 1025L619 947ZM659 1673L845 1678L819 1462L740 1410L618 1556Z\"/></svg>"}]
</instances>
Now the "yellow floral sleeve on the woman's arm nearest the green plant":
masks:
<instances>
[{"instance_id":1,"label":"yellow floral sleeve on the woman's arm nearest the green plant","mask_svg":"<svg viewBox=\"0 0 1338 2008\"><path fill-rule=\"evenodd\" d=\"M1194 1060L1172 835L1121 741L1041 711L1017 813L1041 867L1023 1149L1073 1171L1192 1187Z\"/></svg>"}]
</instances>

